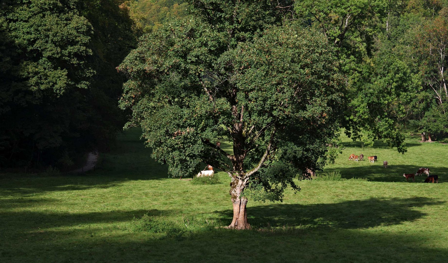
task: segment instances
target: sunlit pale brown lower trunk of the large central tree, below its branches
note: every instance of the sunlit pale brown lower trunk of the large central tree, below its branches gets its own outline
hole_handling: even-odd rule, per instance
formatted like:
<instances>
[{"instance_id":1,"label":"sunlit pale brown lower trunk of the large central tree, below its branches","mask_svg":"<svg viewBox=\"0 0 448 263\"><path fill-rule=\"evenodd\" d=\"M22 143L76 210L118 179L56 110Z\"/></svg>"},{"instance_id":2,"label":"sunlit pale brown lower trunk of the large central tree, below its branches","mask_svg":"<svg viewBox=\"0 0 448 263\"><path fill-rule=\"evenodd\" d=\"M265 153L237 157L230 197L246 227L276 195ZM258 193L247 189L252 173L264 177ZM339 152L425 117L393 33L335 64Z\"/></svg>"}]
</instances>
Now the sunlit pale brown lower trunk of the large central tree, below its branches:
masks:
<instances>
[{"instance_id":1,"label":"sunlit pale brown lower trunk of the large central tree, below its branches","mask_svg":"<svg viewBox=\"0 0 448 263\"><path fill-rule=\"evenodd\" d=\"M237 177L232 178L230 183L230 196L233 204L233 219L228 228L249 229L250 224L247 223L246 204L247 197L242 197L241 193L246 187L247 180L240 180Z\"/></svg>"}]
</instances>

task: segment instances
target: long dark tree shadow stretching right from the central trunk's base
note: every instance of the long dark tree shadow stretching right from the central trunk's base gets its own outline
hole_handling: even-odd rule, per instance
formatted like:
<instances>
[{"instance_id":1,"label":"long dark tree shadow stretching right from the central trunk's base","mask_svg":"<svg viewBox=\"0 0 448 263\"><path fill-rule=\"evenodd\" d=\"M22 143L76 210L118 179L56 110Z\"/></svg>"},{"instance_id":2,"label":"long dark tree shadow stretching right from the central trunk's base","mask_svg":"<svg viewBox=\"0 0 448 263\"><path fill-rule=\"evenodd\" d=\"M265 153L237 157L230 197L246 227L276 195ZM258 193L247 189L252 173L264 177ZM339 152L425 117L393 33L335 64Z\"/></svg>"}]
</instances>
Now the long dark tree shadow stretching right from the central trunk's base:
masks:
<instances>
[{"instance_id":1,"label":"long dark tree shadow stretching right from the central trunk's base","mask_svg":"<svg viewBox=\"0 0 448 263\"><path fill-rule=\"evenodd\" d=\"M247 208L249 224L256 228L373 228L401 224L426 216L414 207L436 206L445 202L426 197L369 198L332 204L271 204ZM220 218L232 221L232 211Z\"/></svg>"}]
</instances>

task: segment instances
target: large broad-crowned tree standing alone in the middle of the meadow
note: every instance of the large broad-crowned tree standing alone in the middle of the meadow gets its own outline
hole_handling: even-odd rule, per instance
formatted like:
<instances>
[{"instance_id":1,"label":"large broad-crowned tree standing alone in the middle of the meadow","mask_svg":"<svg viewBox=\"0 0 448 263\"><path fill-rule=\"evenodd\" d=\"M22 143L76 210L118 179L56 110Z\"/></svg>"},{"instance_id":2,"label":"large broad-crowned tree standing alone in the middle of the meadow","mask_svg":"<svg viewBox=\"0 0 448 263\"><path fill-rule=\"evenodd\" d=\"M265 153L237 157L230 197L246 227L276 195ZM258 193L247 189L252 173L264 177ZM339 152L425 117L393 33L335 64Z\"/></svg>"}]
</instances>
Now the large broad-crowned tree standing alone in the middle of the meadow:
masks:
<instances>
[{"instance_id":1,"label":"large broad-crowned tree standing alone in the middle of the meadow","mask_svg":"<svg viewBox=\"0 0 448 263\"><path fill-rule=\"evenodd\" d=\"M280 26L277 4L193 1L195 18L145 35L118 68L129 78L128 126L142 127L170 175L205 162L231 177L229 228L250 227L247 196L299 190L293 179L322 168L338 136L345 82L332 46L318 31Z\"/></svg>"}]
</instances>

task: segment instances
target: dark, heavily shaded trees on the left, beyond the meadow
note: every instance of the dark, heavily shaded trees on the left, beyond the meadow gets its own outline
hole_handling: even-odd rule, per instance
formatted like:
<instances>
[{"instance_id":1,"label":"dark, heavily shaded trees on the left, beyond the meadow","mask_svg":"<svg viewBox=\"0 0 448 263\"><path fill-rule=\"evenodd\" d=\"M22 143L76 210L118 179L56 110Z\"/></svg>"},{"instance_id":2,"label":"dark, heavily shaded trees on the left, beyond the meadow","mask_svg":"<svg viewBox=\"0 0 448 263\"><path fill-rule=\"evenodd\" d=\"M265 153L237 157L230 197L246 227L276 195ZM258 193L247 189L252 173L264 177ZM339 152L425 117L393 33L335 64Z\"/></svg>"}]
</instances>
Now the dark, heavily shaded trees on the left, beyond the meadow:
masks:
<instances>
[{"instance_id":1,"label":"dark, heavily shaded trees on the left, beyond the meadow","mask_svg":"<svg viewBox=\"0 0 448 263\"><path fill-rule=\"evenodd\" d=\"M121 2L2 2L1 167L69 166L115 138L124 123L115 67L135 44Z\"/></svg>"}]
</instances>

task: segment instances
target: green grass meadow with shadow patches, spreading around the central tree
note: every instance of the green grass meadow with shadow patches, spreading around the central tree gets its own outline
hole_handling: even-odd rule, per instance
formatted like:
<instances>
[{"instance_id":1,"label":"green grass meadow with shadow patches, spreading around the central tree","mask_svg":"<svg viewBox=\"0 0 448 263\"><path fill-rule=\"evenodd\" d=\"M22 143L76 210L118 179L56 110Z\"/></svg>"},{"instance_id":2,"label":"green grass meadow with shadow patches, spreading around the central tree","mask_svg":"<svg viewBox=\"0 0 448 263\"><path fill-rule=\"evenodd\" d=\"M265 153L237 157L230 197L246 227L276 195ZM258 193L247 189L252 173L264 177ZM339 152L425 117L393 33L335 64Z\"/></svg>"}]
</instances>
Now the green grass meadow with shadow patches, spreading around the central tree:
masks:
<instances>
[{"instance_id":1,"label":"green grass meadow with shadow patches, spreading around the central tree","mask_svg":"<svg viewBox=\"0 0 448 263\"><path fill-rule=\"evenodd\" d=\"M306 180L282 203L250 200L246 231L221 228L232 218L227 175L211 185L168 178L137 129L95 171L0 174L0 262L446 263L448 145L409 136L402 155L342 139L343 154L320 174L366 180ZM348 161L350 153L378 162ZM439 184L406 182L402 174L420 167Z\"/></svg>"}]
</instances>

